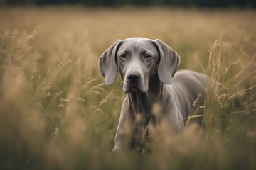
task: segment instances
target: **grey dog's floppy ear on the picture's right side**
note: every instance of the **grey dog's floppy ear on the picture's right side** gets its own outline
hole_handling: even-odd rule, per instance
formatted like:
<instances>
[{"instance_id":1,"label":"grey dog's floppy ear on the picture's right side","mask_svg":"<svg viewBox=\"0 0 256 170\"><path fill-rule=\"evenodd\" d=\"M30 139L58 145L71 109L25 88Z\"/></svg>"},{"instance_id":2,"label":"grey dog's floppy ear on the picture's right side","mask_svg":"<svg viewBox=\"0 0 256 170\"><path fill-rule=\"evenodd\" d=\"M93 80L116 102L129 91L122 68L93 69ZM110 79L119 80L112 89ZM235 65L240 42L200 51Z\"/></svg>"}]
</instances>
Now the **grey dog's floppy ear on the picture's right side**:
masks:
<instances>
[{"instance_id":1,"label":"grey dog's floppy ear on the picture's right side","mask_svg":"<svg viewBox=\"0 0 256 170\"><path fill-rule=\"evenodd\" d=\"M163 84L171 84L180 64L180 57L161 40L154 40L154 43L160 55L159 67L157 69L159 79Z\"/></svg>"}]
</instances>

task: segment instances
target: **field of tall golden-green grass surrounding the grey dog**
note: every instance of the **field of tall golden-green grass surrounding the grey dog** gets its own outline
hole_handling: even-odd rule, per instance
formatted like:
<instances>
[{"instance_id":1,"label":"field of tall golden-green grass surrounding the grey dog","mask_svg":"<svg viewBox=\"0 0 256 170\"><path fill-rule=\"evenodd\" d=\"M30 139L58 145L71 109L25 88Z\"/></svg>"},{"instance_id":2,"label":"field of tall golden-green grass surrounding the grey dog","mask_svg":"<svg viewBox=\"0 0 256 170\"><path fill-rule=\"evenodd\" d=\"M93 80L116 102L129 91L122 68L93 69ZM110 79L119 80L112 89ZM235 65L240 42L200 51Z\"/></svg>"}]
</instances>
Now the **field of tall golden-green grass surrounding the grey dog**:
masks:
<instances>
[{"instance_id":1,"label":"field of tall golden-green grass surrounding the grey dog","mask_svg":"<svg viewBox=\"0 0 256 170\"><path fill-rule=\"evenodd\" d=\"M256 11L1 7L0 21L0 169L256 169ZM151 152L110 154L125 94L97 60L134 36L216 81L202 127L149 125Z\"/></svg>"}]
</instances>

